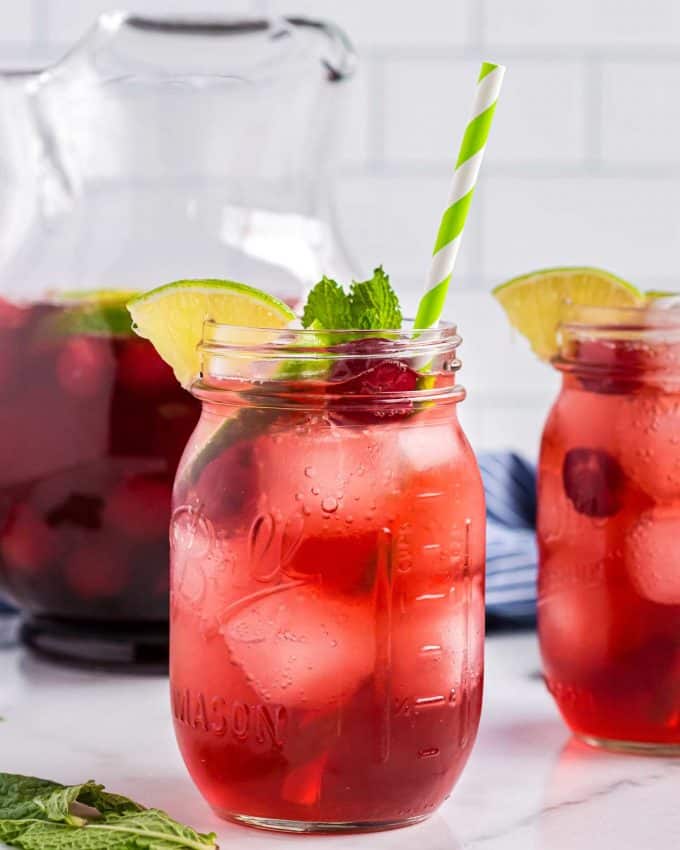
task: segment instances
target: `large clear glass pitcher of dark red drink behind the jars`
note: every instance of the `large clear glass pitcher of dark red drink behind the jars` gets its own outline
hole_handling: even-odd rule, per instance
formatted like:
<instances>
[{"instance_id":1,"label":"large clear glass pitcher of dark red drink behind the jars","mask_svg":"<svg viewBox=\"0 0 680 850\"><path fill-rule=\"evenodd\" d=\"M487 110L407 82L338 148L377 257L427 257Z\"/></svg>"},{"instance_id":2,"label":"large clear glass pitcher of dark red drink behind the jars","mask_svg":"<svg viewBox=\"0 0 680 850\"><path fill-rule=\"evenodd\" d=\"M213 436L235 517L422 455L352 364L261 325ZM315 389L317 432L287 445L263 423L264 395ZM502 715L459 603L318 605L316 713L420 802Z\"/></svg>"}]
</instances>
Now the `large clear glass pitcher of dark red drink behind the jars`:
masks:
<instances>
[{"instance_id":1,"label":"large clear glass pitcher of dark red drink behind the jars","mask_svg":"<svg viewBox=\"0 0 680 850\"><path fill-rule=\"evenodd\" d=\"M167 663L172 479L198 404L130 294L346 277L323 179L355 57L303 18L108 13L0 78L0 595L71 662Z\"/></svg>"}]
</instances>

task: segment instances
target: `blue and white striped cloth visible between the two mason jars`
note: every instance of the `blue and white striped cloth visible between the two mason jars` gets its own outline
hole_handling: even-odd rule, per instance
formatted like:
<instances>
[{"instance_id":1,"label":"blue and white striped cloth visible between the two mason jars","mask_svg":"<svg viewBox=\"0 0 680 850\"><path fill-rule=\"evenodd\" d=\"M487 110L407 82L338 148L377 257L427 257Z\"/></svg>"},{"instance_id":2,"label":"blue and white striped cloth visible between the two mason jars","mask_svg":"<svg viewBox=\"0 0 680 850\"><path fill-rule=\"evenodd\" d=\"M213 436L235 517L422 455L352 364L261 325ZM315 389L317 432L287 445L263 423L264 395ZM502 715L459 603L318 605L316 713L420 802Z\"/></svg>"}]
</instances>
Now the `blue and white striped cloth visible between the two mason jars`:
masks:
<instances>
[{"instance_id":1,"label":"blue and white striped cloth visible between the two mason jars","mask_svg":"<svg viewBox=\"0 0 680 850\"><path fill-rule=\"evenodd\" d=\"M536 472L511 452L478 457L486 493L486 609L490 622L536 616Z\"/></svg>"}]
</instances>

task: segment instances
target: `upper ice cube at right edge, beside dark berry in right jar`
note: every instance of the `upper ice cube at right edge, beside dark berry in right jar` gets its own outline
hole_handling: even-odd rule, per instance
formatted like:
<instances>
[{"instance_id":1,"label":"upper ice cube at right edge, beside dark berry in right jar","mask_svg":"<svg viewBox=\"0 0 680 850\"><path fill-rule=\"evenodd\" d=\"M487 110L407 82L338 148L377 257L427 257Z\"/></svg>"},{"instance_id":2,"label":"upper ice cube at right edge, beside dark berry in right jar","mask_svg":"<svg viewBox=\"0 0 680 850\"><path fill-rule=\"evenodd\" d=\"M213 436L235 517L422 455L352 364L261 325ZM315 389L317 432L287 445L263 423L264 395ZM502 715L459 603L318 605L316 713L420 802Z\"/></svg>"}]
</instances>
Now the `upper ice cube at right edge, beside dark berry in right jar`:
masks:
<instances>
[{"instance_id":1,"label":"upper ice cube at right edge, beside dark berry in right jar","mask_svg":"<svg viewBox=\"0 0 680 850\"><path fill-rule=\"evenodd\" d=\"M655 501L680 497L680 401L631 396L614 424L624 472Z\"/></svg>"}]
</instances>

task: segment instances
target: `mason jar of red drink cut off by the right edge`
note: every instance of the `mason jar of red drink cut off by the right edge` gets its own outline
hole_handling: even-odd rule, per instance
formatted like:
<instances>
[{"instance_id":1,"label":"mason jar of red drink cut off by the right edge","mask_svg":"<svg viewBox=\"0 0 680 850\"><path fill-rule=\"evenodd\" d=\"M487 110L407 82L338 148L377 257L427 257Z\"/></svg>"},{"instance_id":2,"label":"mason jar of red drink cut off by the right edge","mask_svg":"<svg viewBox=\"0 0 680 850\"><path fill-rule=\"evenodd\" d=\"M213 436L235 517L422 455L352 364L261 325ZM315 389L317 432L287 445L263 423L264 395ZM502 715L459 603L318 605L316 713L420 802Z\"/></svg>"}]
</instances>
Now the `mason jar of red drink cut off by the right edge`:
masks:
<instances>
[{"instance_id":1,"label":"mason jar of red drink cut off by the right edge","mask_svg":"<svg viewBox=\"0 0 680 850\"><path fill-rule=\"evenodd\" d=\"M574 309L539 468L545 678L591 744L680 752L680 313Z\"/></svg>"}]
</instances>

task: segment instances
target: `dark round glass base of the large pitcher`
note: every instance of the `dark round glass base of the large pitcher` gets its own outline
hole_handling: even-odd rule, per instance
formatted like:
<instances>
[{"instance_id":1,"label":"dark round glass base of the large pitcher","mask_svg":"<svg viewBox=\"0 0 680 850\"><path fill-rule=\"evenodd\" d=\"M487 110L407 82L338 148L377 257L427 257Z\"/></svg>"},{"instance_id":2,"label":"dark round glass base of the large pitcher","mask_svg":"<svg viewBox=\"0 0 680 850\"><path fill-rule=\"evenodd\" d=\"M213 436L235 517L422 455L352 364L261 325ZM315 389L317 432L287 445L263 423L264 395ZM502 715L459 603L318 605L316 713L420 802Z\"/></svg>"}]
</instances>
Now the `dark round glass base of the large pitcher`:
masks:
<instances>
[{"instance_id":1,"label":"dark round glass base of the large pitcher","mask_svg":"<svg viewBox=\"0 0 680 850\"><path fill-rule=\"evenodd\" d=\"M168 624L108 624L31 617L21 642L49 661L88 670L168 672Z\"/></svg>"}]
</instances>

